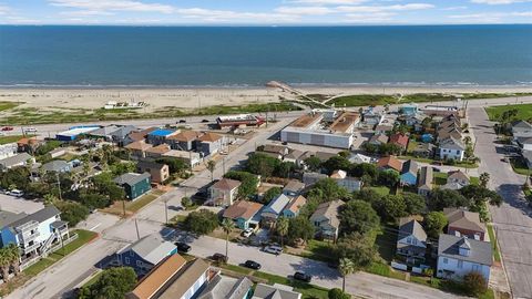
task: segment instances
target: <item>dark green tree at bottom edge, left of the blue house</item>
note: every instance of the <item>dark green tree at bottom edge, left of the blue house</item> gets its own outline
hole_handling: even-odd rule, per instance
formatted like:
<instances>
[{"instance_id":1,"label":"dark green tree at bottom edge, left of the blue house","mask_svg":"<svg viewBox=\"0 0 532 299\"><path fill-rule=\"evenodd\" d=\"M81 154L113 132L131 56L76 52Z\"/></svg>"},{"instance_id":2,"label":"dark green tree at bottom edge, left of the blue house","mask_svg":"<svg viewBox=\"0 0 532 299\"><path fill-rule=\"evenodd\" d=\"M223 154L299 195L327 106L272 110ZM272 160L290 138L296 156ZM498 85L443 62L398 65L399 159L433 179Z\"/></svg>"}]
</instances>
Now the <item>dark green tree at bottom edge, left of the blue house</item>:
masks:
<instances>
[{"instance_id":1,"label":"dark green tree at bottom edge, left of the blue house","mask_svg":"<svg viewBox=\"0 0 532 299\"><path fill-rule=\"evenodd\" d=\"M98 280L83 287L80 299L123 299L134 289L136 274L131 267L117 267L103 270Z\"/></svg>"}]
</instances>

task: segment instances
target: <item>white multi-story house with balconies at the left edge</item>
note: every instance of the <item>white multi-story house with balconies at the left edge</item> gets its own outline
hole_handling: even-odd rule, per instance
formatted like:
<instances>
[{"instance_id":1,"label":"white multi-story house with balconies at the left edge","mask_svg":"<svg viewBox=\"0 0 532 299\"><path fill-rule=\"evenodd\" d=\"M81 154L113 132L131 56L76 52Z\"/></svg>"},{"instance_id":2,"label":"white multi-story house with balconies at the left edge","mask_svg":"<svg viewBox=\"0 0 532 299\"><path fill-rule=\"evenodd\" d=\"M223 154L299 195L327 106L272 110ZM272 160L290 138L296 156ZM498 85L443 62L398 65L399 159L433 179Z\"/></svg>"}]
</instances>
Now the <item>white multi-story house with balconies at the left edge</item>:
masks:
<instances>
[{"instance_id":1,"label":"white multi-story house with balconies at the left edge","mask_svg":"<svg viewBox=\"0 0 532 299\"><path fill-rule=\"evenodd\" d=\"M0 210L0 246L17 245L22 264L48 254L60 237L70 239L68 223L61 220L60 214L54 206L30 215Z\"/></svg>"}]
</instances>

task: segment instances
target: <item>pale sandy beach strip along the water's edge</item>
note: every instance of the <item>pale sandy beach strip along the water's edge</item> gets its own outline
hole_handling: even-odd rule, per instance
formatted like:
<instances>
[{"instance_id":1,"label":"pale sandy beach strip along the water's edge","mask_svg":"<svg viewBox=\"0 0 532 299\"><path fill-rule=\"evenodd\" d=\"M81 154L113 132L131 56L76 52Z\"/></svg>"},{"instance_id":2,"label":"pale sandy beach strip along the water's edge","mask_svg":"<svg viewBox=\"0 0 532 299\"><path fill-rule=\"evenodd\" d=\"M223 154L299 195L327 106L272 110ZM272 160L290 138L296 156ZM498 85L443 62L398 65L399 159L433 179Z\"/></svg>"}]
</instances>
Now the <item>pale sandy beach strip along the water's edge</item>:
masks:
<instances>
[{"instance_id":1,"label":"pale sandy beach strip along the water's edge","mask_svg":"<svg viewBox=\"0 0 532 299\"><path fill-rule=\"evenodd\" d=\"M516 93L532 92L532 86L296 86L306 94L411 94L411 93ZM161 107L183 110L213 105L243 105L278 102L295 95L275 87L203 87L203 89L0 89L0 101L23 103L20 107L39 110L101 109L109 101L145 102L144 110Z\"/></svg>"}]
</instances>

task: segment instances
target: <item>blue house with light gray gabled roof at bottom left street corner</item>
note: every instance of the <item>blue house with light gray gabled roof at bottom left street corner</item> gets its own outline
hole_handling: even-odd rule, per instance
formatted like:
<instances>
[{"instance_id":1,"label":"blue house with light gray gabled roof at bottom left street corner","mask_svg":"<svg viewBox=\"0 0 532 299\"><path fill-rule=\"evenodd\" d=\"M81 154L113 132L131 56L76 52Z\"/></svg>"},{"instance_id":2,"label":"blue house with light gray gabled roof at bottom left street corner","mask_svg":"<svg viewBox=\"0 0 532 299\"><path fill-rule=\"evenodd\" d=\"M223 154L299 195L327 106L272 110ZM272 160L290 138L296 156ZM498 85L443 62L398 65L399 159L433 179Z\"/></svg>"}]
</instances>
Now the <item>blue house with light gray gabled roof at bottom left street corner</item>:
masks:
<instances>
[{"instance_id":1,"label":"blue house with light gray gabled roof at bottom left street corner","mask_svg":"<svg viewBox=\"0 0 532 299\"><path fill-rule=\"evenodd\" d=\"M136 275L144 276L164 258L175 254L175 245L153 234L122 248L116 252L116 258L121 266L132 267Z\"/></svg>"}]
</instances>

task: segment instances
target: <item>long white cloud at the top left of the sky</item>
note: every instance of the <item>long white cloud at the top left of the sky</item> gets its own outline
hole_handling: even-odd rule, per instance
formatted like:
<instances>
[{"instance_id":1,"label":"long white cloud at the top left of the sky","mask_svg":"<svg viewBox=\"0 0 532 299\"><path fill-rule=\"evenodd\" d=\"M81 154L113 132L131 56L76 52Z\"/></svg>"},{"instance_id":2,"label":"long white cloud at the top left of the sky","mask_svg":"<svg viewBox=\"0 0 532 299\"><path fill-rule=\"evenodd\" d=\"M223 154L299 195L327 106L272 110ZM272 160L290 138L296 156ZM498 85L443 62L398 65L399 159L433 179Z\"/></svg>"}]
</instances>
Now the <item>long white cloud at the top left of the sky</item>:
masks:
<instances>
[{"instance_id":1,"label":"long white cloud at the top left of the sky","mask_svg":"<svg viewBox=\"0 0 532 299\"><path fill-rule=\"evenodd\" d=\"M75 8L88 11L136 11L172 13L174 8L161 3L144 3L132 0L49 0L54 7Z\"/></svg>"}]
</instances>

